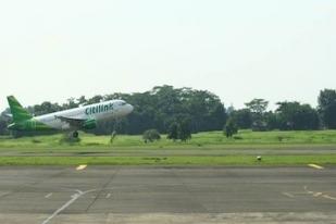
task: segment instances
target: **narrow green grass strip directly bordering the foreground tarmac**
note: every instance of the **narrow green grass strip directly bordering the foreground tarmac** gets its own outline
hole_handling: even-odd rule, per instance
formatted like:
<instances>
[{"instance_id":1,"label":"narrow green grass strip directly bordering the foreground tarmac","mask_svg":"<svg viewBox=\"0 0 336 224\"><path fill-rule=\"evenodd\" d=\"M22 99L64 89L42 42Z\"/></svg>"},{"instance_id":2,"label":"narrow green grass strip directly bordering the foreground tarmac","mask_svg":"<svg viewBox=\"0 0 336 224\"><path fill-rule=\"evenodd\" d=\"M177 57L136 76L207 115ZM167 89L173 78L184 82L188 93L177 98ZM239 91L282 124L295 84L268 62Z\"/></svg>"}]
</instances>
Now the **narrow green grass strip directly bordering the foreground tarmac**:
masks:
<instances>
[{"instance_id":1,"label":"narrow green grass strip directly bordering the foreground tarmac","mask_svg":"<svg viewBox=\"0 0 336 224\"><path fill-rule=\"evenodd\" d=\"M336 154L227 157L2 157L0 165L320 165L336 164Z\"/></svg>"}]
</instances>

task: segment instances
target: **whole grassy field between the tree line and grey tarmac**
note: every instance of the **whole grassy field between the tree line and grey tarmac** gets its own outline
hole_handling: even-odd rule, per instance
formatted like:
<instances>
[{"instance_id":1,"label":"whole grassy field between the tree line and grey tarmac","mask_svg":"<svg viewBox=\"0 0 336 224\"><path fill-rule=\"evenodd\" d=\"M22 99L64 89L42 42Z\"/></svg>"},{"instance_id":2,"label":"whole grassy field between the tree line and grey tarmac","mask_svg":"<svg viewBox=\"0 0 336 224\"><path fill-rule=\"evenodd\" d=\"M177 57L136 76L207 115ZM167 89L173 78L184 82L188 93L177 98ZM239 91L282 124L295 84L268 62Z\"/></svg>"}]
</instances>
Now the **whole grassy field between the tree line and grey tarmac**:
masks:
<instances>
[{"instance_id":1,"label":"whole grassy field between the tree line and grey tarmac","mask_svg":"<svg viewBox=\"0 0 336 224\"><path fill-rule=\"evenodd\" d=\"M61 144L61 134L18 139L0 138L0 165L336 164L336 153L334 153L336 130L262 133L240 130L232 139L227 139L222 132L211 132L195 134L187 142L174 142L162 136L160 141L151 144L145 144L141 136L117 136L113 144L110 144L110 136L83 133L80 133L82 140L77 144ZM318 153L318 149L325 146L331 150ZM284 149L289 152L298 147L313 150L309 154L284 153ZM249 153L241 153L242 149L249 150ZM266 149L261 162L256 160L259 149ZM183 153L179 153L182 151ZM227 151L231 151L229 154L226 153ZM254 151L256 154L253 154ZM279 151L282 153L278 153ZM94 155L97 152L100 152L102 157ZM164 155L161 154L163 152ZM70 154L72 157L66 157Z\"/></svg>"}]
</instances>

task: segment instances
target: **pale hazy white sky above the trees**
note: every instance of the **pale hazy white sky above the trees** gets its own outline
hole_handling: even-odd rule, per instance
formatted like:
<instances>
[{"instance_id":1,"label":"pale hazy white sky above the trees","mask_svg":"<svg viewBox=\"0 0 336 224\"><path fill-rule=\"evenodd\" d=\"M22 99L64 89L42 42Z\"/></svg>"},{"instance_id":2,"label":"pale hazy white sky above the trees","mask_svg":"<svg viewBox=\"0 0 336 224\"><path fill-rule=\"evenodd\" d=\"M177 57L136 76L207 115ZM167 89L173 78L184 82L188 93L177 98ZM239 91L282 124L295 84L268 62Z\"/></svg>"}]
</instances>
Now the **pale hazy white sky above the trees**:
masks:
<instances>
[{"instance_id":1,"label":"pale hazy white sky above the trees","mask_svg":"<svg viewBox=\"0 0 336 224\"><path fill-rule=\"evenodd\" d=\"M336 1L0 1L0 77L1 111L164 84L315 105L336 88Z\"/></svg>"}]
</instances>

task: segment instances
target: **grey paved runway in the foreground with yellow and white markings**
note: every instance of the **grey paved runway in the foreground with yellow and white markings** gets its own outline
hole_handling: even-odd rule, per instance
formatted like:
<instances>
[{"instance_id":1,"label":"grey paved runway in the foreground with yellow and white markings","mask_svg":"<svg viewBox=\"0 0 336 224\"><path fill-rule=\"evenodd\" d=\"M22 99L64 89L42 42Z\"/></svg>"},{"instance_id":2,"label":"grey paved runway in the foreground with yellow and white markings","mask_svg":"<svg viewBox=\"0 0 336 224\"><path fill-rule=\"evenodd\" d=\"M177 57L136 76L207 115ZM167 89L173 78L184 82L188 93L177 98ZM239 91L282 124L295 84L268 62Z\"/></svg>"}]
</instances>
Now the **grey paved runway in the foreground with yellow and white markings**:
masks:
<instances>
[{"instance_id":1,"label":"grey paved runway in the foreground with yellow and white markings","mask_svg":"<svg viewBox=\"0 0 336 224\"><path fill-rule=\"evenodd\" d=\"M2 166L0 223L336 223L336 167Z\"/></svg>"}]
</instances>

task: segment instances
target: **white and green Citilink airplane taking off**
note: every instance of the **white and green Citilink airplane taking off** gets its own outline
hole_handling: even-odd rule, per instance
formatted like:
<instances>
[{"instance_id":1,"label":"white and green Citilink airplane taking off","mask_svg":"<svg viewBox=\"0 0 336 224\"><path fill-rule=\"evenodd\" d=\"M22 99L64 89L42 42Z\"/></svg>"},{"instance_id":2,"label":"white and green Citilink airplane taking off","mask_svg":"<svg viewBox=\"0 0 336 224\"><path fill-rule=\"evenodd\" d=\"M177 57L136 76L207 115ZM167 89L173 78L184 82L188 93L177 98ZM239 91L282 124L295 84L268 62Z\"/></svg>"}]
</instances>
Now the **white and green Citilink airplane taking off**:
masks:
<instances>
[{"instance_id":1,"label":"white and green Citilink airplane taking off","mask_svg":"<svg viewBox=\"0 0 336 224\"><path fill-rule=\"evenodd\" d=\"M98 121L120 119L133 111L133 105L124 100L109 100L70 110L33 116L25 110L14 96L9 96L8 102L13 123L10 130L67 130L73 138L78 137L79 129L92 129Z\"/></svg>"}]
</instances>

